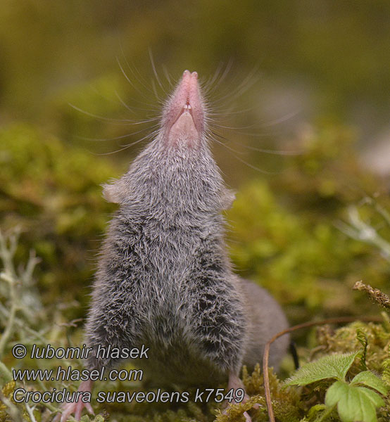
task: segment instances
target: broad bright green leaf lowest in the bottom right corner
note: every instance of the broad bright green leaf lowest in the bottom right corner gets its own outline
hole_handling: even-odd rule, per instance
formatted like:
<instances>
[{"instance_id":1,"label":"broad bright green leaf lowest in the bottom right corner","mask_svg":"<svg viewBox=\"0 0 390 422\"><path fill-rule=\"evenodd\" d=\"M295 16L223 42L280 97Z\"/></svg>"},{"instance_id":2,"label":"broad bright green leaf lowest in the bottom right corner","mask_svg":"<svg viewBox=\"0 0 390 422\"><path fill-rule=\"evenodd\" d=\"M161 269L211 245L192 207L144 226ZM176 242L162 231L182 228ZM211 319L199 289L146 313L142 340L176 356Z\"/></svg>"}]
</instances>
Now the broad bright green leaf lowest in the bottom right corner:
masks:
<instances>
[{"instance_id":1,"label":"broad bright green leaf lowest in the bottom right corner","mask_svg":"<svg viewBox=\"0 0 390 422\"><path fill-rule=\"evenodd\" d=\"M337 405L342 422L377 422L376 409L384 406L384 400L369 388L336 381L327 390L325 404Z\"/></svg>"}]
</instances>

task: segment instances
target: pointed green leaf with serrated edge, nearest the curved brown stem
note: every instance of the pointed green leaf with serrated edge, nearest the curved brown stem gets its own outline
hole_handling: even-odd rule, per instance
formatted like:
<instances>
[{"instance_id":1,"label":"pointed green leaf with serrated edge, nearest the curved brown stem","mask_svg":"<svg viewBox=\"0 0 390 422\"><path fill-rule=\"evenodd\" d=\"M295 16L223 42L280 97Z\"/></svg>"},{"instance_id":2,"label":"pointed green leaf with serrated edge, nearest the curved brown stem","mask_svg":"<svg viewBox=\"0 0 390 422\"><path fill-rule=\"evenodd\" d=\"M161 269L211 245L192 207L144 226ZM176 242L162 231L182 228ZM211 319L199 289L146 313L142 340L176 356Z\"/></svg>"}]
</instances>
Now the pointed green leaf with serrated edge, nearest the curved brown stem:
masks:
<instances>
[{"instance_id":1,"label":"pointed green leaf with serrated edge, nearest the curved brown stem","mask_svg":"<svg viewBox=\"0 0 390 422\"><path fill-rule=\"evenodd\" d=\"M331 354L321 357L315 362L303 365L287 379L286 385L306 385L326 378L344 381L348 369L359 352L348 354Z\"/></svg>"}]
</instances>

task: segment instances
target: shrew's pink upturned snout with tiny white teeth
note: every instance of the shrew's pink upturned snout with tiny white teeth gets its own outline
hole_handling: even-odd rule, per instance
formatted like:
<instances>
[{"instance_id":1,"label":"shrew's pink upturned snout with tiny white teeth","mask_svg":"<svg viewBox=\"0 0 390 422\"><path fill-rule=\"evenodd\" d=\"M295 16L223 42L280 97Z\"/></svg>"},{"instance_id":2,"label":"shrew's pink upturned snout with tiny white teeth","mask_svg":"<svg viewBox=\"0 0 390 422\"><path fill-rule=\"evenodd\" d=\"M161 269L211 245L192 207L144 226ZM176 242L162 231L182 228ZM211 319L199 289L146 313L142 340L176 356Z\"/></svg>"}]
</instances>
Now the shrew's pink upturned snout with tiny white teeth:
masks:
<instances>
[{"instance_id":1,"label":"shrew's pink upturned snout with tiny white teeth","mask_svg":"<svg viewBox=\"0 0 390 422\"><path fill-rule=\"evenodd\" d=\"M165 106L165 135L170 145L180 142L194 145L199 141L204 131L203 108L198 74L185 70L182 80Z\"/></svg>"}]
</instances>

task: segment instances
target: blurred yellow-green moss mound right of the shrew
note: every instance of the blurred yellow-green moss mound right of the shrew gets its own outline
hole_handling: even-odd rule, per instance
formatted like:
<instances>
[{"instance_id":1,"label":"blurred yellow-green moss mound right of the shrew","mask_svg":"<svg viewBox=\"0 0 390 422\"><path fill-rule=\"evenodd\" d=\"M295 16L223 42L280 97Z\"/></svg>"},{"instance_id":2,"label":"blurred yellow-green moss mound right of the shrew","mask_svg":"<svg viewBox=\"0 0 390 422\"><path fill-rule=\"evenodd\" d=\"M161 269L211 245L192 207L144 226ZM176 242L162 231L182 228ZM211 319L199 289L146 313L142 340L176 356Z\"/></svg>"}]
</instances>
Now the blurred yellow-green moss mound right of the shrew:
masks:
<instances>
[{"instance_id":1,"label":"blurred yellow-green moss mound right of the shrew","mask_svg":"<svg viewBox=\"0 0 390 422\"><path fill-rule=\"evenodd\" d=\"M348 206L356 204L361 218L390 238L390 227L362 194L368 198L385 186L360 167L351 131L310 129L302 145L288 171L253 180L237 193L227 214L234 265L284 302L291 322L372 312L351 286L360 279L386 286L389 264L377 248L346 236L344 227ZM390 209L389 198L378 200Z\"/></svg>"}]
</instances>

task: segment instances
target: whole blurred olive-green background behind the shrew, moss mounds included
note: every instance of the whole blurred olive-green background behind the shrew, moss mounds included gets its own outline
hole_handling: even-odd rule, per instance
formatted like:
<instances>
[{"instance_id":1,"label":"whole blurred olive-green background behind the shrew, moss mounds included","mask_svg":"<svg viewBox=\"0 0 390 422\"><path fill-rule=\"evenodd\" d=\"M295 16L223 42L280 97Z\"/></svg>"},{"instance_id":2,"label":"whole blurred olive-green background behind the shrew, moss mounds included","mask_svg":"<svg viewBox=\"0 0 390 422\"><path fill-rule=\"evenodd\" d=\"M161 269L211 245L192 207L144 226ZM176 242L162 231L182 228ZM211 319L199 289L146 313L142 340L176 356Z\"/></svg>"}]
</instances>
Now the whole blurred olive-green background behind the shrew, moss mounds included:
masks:
<instances>
[{"instance_id":1,"label":"whole blurred olive-green background behind the shrew, moss mounds included","mask_svg":"<svg viewBox=\"0 0 390 422\"><path fill-rule=\"evenodd\" d=\"M151 132L188 68L237 190L237 271L292 323L375 311L351 286L386 290L389 261L344 232L356 205L390 238L375 209L389 210L389 1L2 0L0 22L0 227L22 226L18 260L42 257L44 305L84 316L115 210L99 185L125 172L144 143L118 150Z\"/></svg>"}]
</instances>

